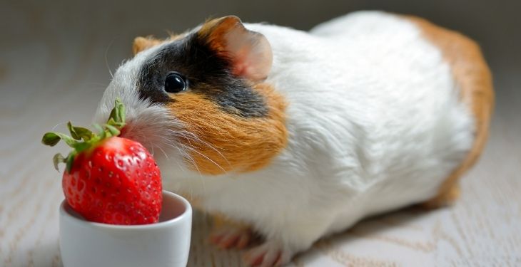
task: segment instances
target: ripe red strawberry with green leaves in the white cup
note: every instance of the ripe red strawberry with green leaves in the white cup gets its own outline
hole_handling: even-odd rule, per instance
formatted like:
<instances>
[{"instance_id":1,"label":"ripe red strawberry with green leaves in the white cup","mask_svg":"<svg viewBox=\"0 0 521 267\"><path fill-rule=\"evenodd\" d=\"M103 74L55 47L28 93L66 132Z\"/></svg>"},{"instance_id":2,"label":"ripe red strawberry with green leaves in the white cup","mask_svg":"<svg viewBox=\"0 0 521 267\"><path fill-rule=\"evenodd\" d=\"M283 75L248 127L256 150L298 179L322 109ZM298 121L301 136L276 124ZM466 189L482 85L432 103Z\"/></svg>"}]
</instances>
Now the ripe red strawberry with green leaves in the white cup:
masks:
<instances>
[{"instance_id":1,"label":"ripe red strawberry with green leaves in the white cup","mask_svg":"<svg viewBox=\"0 0 521 267\"><path fill-rule=\"evenodd\" d=\"M88 221L105 224L151 224L162 204L161 173L151 154L133 140L117 137L124 126L123 104L116 106L99 133L67 124L71 136L47 132L42 142L60 140L73 148L54 156L54 167L66 163L62 187L67 203Z\"/></svg>"}]
</instances>

